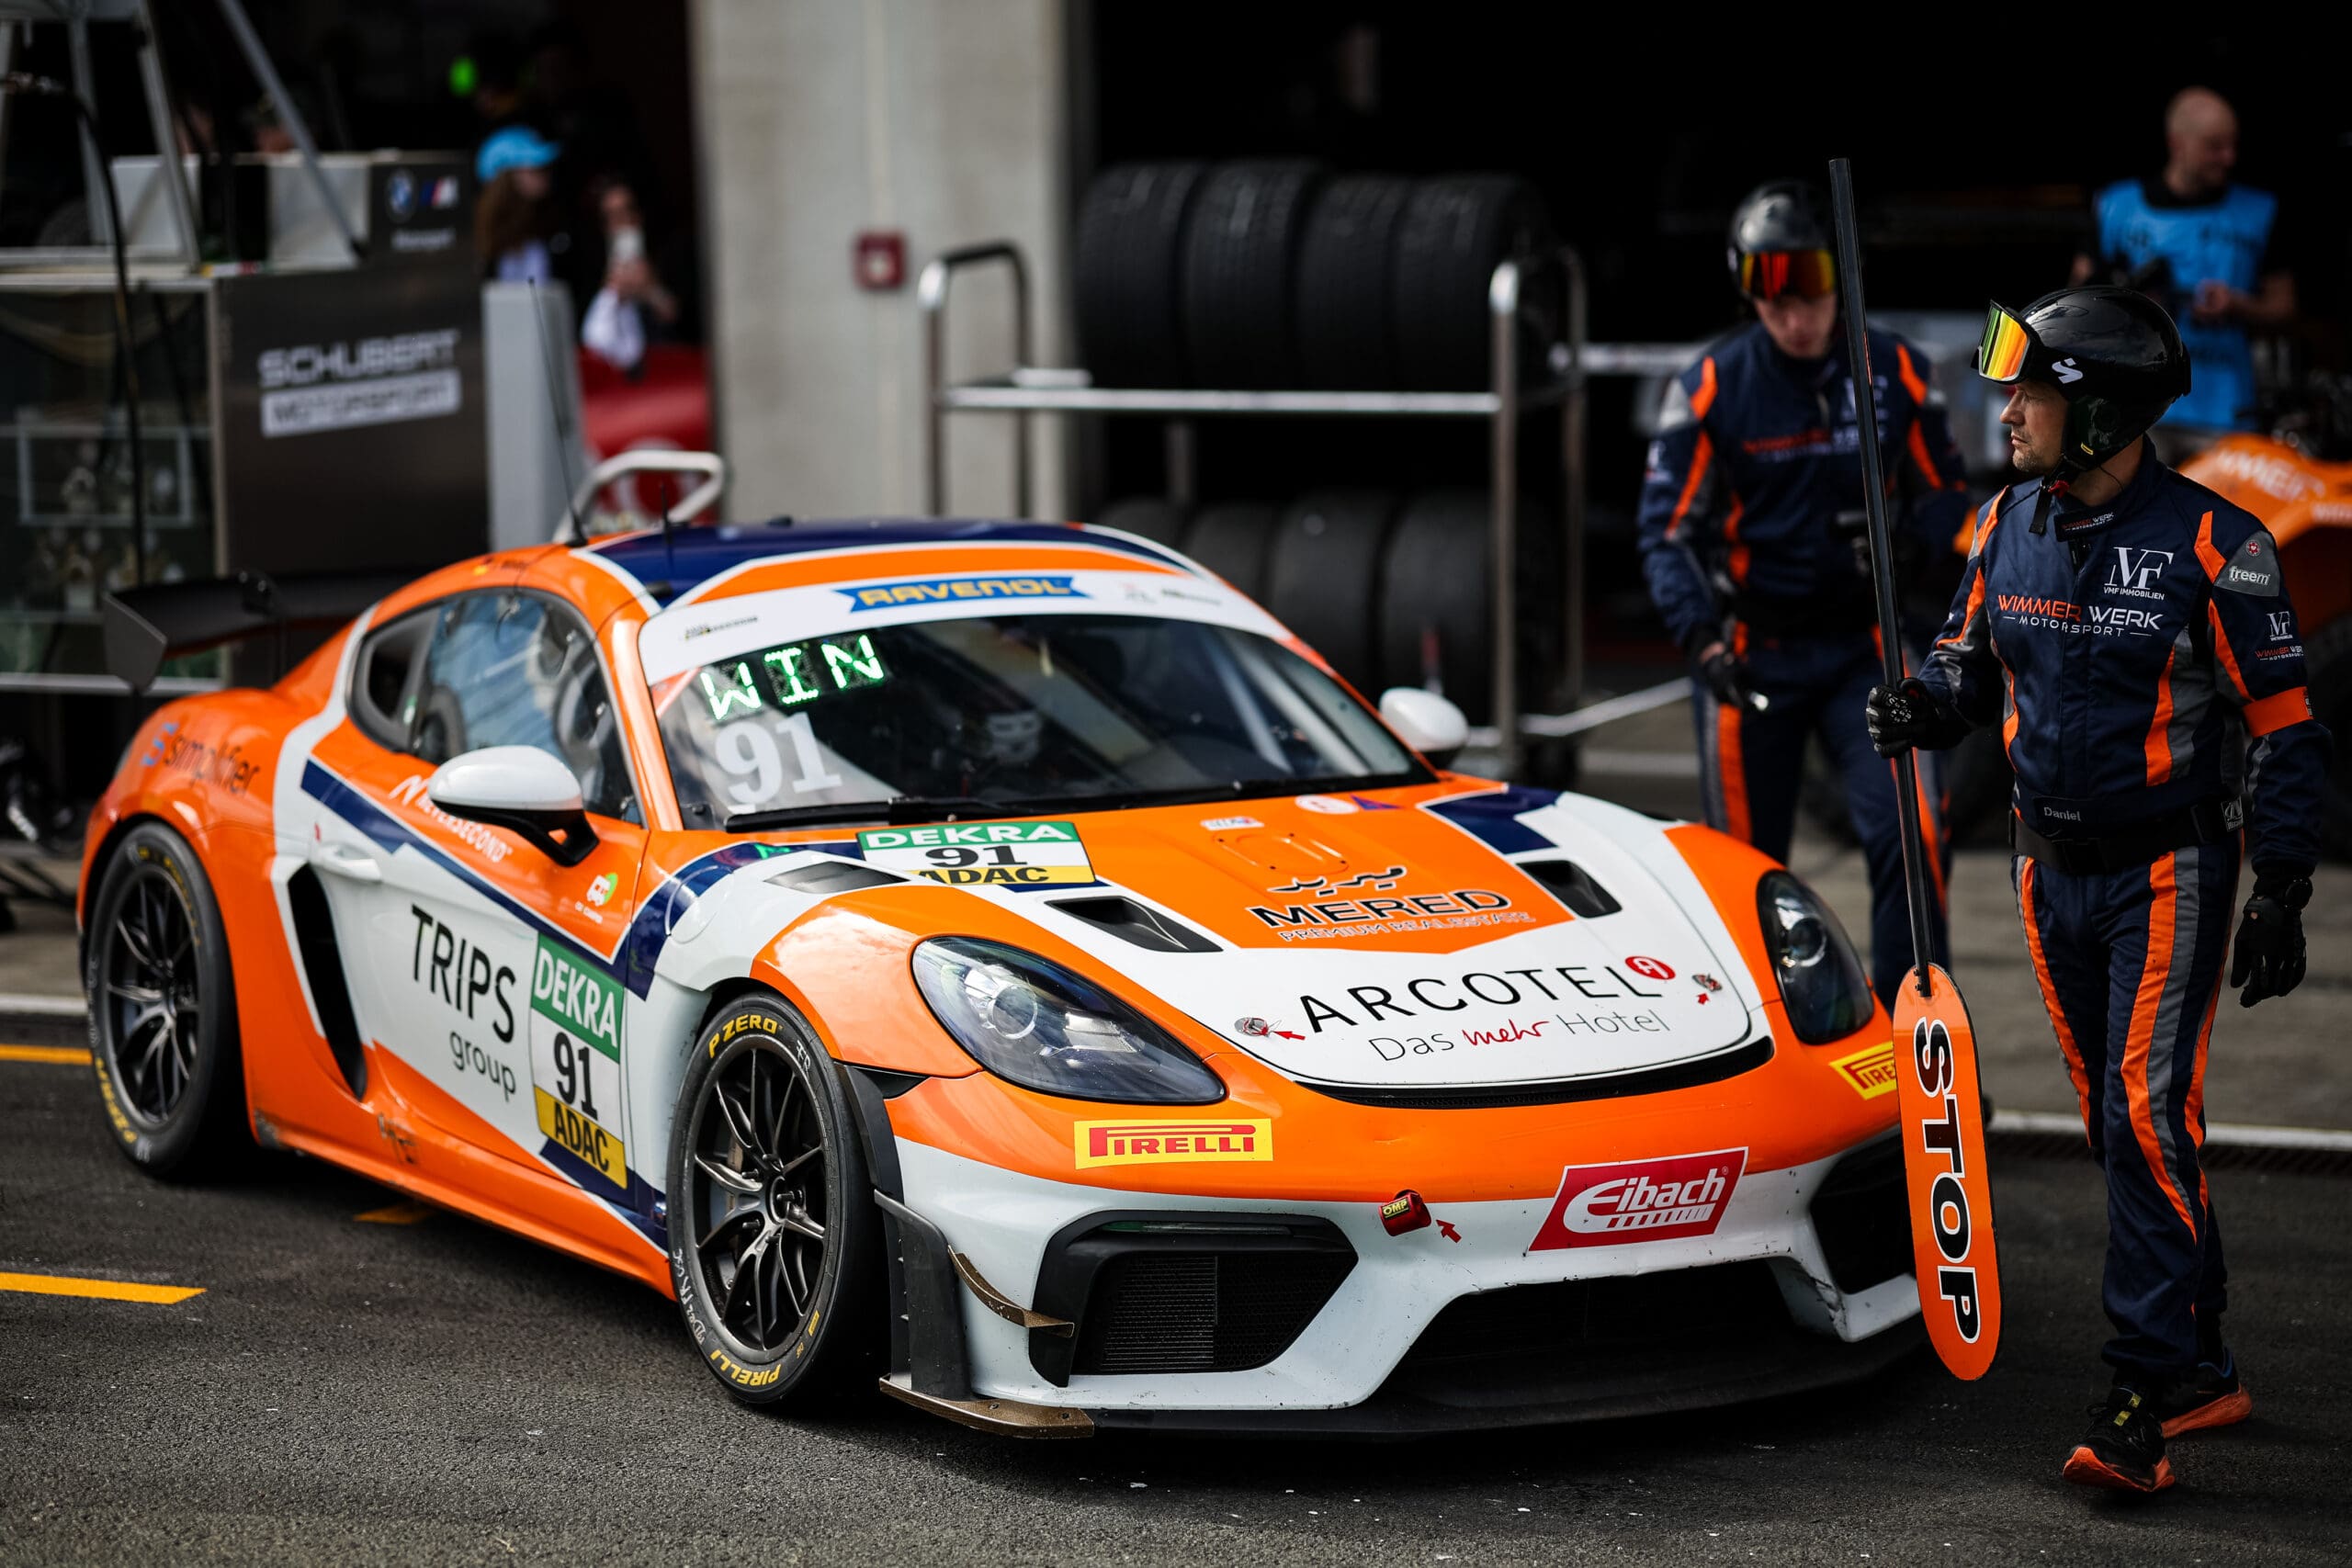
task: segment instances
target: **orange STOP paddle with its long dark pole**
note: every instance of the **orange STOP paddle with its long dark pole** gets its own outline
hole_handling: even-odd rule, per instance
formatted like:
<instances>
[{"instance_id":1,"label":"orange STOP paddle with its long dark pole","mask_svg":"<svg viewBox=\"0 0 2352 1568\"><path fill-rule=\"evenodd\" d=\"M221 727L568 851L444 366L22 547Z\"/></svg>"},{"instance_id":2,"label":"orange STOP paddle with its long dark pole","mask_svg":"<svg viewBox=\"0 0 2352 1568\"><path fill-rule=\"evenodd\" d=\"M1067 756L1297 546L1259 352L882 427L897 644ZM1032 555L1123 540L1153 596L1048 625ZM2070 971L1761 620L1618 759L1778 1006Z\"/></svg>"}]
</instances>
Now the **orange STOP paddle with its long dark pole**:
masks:
<instances>
[{"instance_id":1,"label":"orange STOP paddle with its long dark pole","mask_svg":"<svg viewBox=\"0 0 2352 1568\"><path fill-rule=\"evenodd\" d=\"M1903 625L1896 616L1893 552L1886 541L1886 470L1879 465L1879 400L1870 376L1863 317L1863 247L1853 226L1853 165L1830 160L1837 223L1837 289L1846 313L1856 435L1863 456L1863 510L1870 522L1870 576L1879 595L1879 656L1886 684L1903 682ZM1926 844L1919 837L1919 762L1893 759L1903 823L1903 879L1910 886L1912 957L1896 997L1896 1093L1903 1133L1905 1211L1912 1272L1926 1338L1955 1378L1983 1378L2002 1342L2002 1269L1992 1258L1992 1180L1985 1171L1985 1100L1976 1086L1976 1030L1952 976L1929 961Z\"/></svg>"}]
</instances>

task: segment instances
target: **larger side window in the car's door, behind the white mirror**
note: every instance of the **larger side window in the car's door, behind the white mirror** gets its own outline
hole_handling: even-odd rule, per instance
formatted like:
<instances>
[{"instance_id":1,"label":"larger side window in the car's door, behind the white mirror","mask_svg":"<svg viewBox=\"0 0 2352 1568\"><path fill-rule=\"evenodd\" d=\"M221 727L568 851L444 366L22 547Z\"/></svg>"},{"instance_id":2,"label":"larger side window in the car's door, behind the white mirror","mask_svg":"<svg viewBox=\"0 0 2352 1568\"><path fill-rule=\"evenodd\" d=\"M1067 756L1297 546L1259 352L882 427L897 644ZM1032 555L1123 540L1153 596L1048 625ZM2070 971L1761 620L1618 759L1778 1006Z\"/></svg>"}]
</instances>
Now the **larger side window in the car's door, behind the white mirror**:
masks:
<instances>
[{"instance_id":1,"label":"larger side window in the car's door, behind the white mirror","mask_svg":"<svg viewBox=\"0 0 2352 1568\"><path fill-rule=\"evenodd\" d=\"M485 745L539 748L572 769L590 811L642 820L595 637L553 599L461 595L433 630L407 750L440 766Z\"/></svg>"}]
</instances>

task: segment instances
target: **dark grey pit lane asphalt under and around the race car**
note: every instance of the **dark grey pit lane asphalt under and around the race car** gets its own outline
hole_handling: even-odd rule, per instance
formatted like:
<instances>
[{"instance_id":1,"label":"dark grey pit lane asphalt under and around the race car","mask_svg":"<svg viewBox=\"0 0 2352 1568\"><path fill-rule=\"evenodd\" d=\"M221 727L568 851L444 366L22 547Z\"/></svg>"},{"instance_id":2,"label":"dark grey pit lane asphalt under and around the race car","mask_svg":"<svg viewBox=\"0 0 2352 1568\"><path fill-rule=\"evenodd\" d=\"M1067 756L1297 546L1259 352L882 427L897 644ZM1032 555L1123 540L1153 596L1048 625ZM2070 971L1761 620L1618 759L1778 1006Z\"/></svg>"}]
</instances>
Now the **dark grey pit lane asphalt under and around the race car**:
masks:
<instances>
[{"instance_id":1,"label":"dark grey pit lane asphalt under and around the race car","mask_svg":"<svg viewBox=\"0 0 2352 1568\"><path fill-rule=\"evenodd\" d=\"M75 1030L16 1044L73 1044ZM2100 1185L1997 1164L2006 1333L1738 1410L1392 1446L990 1439L880 1396L731 1406L670 1302L273 1157L169 1187L73 1065L0 1063L0 1272L202 1286L181 1305L0 1291L0 1561L334 1563L2343 1563L2343 1175L2216 1171L2256 1418L2183 1486L2082 1493L2103 1382Z\"/></svg>"}]
</instances>

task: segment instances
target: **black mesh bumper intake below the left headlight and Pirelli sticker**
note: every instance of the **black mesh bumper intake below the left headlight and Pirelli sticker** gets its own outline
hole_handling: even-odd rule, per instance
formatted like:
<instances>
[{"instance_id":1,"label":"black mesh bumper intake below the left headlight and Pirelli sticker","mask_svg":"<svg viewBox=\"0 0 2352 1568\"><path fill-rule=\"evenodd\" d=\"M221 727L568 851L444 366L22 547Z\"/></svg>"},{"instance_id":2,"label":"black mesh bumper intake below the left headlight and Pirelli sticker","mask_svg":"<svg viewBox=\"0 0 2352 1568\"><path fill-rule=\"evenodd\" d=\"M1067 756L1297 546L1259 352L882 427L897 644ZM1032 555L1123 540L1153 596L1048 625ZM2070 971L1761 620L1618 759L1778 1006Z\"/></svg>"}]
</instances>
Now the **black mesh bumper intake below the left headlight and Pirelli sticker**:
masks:
<instances>
[{"instance_id":1,"label":"black mesh bumper intake below the left headlight and Pirelli sticker","mask_svg":"<svg viewBox=\"0 0 2352 1568\"><path fill-rule=\"evenodd\" d=\"M1355 1267L1319 1253L1124 1253L1103 1262L1077 1328L1077 1373L1242 1373L1305 1333Z\"/></svg>"}]
</instances>

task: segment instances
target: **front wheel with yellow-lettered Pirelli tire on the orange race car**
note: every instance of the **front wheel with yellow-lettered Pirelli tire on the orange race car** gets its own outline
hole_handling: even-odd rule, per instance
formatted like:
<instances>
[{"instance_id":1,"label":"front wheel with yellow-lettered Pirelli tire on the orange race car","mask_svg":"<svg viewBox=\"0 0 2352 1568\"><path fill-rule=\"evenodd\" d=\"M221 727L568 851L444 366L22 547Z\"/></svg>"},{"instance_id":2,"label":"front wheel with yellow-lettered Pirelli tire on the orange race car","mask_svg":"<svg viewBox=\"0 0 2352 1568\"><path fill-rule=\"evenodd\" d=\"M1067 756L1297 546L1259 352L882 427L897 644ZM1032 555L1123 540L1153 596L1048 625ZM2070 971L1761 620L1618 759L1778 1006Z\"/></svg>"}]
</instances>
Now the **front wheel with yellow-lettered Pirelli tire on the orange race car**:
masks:
<instances>
[{"instance_id":1,"label":"front wheel with yellow-lettered Pirelli tire on the orange race car","mask_svg":"<svg viewBox=\"0 0 2352 1568\"><path fill-rule=\"evenodd\" d=\"M882 1222L840 1065L776 997L696 1039L670 1121L670 1284L710 1375L828 1408L882 1371Z\"/></svg>"}]
</instances>

